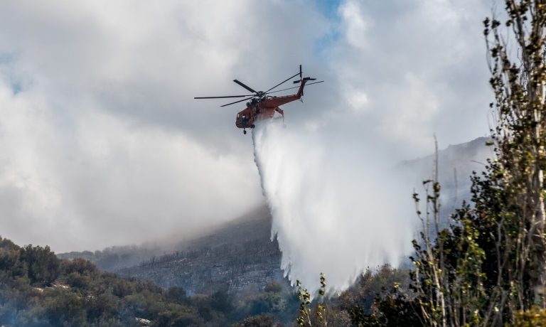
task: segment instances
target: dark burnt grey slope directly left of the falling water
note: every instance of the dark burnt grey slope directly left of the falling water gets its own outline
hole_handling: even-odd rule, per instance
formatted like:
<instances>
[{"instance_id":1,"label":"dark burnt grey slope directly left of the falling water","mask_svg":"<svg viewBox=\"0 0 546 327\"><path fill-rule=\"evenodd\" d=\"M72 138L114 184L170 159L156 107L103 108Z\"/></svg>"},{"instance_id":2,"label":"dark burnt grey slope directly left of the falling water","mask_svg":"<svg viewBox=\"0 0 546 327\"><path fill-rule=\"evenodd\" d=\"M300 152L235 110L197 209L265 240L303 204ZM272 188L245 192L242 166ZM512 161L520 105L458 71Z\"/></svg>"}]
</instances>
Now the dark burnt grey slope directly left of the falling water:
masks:
<instances>
[{"instance_id":1,"label":"dark burnt grey slope directly left of the falling water","mask_svg":"<svg viewBox=\"0 0 546 327\"><path fill-rule=\"evenodd\" d=\"M151 279L164 287L181 286L188 294L210 294L222 288L236 293L257 291L283 279L279 246L270 241L270 235L271 215L264 207L210 235L181 244L181 250L151 257L117 273Z\"/></svg>"}]
</instances>

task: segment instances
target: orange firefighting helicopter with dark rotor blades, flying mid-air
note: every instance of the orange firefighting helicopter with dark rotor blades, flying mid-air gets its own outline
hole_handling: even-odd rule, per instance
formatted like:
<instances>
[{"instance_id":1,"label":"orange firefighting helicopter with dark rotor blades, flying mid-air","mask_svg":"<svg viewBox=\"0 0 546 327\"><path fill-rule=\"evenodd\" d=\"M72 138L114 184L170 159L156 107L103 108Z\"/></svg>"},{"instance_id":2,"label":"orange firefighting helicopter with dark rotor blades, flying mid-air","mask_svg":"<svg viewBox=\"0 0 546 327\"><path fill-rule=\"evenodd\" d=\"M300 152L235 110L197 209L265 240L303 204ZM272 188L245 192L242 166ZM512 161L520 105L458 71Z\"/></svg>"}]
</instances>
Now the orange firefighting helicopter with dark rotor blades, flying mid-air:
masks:
<instances>
[{"instance_id":1,"label":"orange firefighting helicopter with dark rotor blades, flying mid-air","mask_svg":"<svg viewBox=\"0 0 546 327\"><path fill-rule=\"evenodd\" d=\"M298 75L299 75L299 80L294 80L294 84L299 84L299 86L288 87L283 90L274 91L275 88L283 85L285 82L288 82L289 80L291 80L292 78ZM282 104L287 104L295 100L301 100L301 97L304 95L305 85L313 85L313 84L324 82L323 80L319 82L309 82L313 80L316 80L316 78L303 77L301 72L301 65L299 65L299 73L288 77L286 80L280 82L274 87L271 87L269 90L265 92L255 91L254 89L252 89L252 87L245 85L243 82L240 82L239 80L233 80L233 82L237 83L238 85L244 87L246 90L254 94L253 95L227 95L224 97L194 97L193 99L224 99L224 98L232 98L232 97L245 97L245 99L231 102L228 104L223 104L220 107L225 107L231 104L236 104L239 102L250 100L246 104L247 107L237 113L237 118L235 119L235 126L242 129L243 134L247 134L247 129L253 129L256 127L255 122L259 122L260 120L264 120L264 119L273 118L275 112L278 112L282 116L282 119L284 119L284 111L281 108L279 108L279 106L282 106ZM282 92L282 91L291 90L295 88L298 88L298 92L296 92L295 95L284 95L281 97L270 95L272 93Z\"/></svg>"}]
</instances>

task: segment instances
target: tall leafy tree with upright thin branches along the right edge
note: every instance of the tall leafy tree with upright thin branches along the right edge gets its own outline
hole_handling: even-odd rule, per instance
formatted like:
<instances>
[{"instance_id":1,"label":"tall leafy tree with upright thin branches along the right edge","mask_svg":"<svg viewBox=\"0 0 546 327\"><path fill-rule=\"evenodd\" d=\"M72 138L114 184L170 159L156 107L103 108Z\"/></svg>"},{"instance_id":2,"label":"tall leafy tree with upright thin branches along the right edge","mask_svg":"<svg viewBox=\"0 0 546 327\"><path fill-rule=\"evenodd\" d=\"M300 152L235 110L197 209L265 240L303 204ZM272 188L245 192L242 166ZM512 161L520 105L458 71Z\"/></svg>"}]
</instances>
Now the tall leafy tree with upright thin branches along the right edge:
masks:
<instances>
[{"instance_id":1,"label":"tall leafy tree with upright thin branches along the right edge","mask_svg":"<svg viewBox=\"0 0 546 327\"><path fill-rule=\"evenodd\" d=\"M546 2L504 2L502 21L483 22L496 158L473 176L473 206L457 210L449 229L438 228L437 178L424 182L417 208L413 290L429 326L512 324L546 304Z\"/></svg>"}]
</instances>

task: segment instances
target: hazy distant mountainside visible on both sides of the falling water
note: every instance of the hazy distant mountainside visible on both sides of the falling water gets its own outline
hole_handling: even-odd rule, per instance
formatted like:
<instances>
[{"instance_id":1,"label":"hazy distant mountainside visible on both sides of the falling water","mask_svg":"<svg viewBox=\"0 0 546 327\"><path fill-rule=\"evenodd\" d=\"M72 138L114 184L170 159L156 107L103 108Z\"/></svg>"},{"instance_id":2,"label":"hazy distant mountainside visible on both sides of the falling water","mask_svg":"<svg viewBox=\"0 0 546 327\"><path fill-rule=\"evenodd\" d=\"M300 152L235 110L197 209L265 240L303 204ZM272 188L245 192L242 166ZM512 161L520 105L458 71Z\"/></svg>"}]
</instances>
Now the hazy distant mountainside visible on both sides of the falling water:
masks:
<instances>
[{"instance_id":1,"label":"hazy distant mountainside visible on both sides of the falling water","mask_svg":"<svg viewBox=\"0 0 546 327\"><path fill-rule=\"evenodd\" d=\"M469 199L469 176L472 171L481 171L491 155L485 141L478 138L439 151L444 220L462 200ZM434 156L402 161L395 168L420 186L423 179L432 176ZM271 219L264 206L206 235L174 245L113 247L59 256L83 257L100 269L151 279L163 287L181 286L188 294L211 294L218 289L245 294L264 289L268 282L283 281L281 253L270 238Z\"/></svg>"}]
</instances>

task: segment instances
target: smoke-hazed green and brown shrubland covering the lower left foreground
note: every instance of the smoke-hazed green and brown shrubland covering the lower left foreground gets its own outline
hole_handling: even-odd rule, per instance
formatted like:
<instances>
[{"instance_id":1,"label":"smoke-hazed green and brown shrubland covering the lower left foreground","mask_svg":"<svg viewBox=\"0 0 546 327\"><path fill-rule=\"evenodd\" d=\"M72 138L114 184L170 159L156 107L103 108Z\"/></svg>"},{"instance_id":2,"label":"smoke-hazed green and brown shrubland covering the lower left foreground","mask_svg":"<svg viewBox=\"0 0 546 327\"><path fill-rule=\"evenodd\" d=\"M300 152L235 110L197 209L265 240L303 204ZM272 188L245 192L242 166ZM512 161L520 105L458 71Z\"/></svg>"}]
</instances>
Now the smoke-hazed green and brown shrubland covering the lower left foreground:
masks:
<instances>
[{"instance_id":1,"label":"smoke-hazed green and brown shrubland covering the lower left foreground","mask_svg":"<svg viewBox=\"0 0 546 327\"><path fill-rule=\"evenodd\" d=\"M187 296L0 237L0 326L230 326L252 316L290 320L296 309L295 294L279 284L242 299L227 289Z\"/></svg>"}]
</instances>

